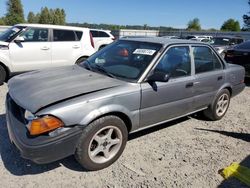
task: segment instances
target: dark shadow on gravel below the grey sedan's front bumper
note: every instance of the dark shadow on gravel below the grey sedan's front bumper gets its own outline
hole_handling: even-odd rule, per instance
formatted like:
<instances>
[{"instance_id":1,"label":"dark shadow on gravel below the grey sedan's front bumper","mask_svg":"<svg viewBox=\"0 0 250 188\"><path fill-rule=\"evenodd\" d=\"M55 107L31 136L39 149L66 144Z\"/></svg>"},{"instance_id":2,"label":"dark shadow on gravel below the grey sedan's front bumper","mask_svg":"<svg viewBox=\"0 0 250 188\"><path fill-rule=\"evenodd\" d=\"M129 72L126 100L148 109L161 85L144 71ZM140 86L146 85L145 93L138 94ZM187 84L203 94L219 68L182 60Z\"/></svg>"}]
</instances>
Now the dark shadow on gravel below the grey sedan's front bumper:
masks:
<instances>
[{"instance_id":1,"label":"dark shadow on gravel below the grey sedan's front bumper","mask_svg":"<svg viewBox=\"0 0 250 188\"><path fill-rule=\"evenodd\" d=\"M4 167L13 175L23 176L40 174L58 167L64 166L73 171L85 170L77 163L73 156L67 157L50 164L35 164L30 160L23 159L16 147L11 144L6 126L5 114L0 115L0 161Z\"/></svg>"}]
</instances>

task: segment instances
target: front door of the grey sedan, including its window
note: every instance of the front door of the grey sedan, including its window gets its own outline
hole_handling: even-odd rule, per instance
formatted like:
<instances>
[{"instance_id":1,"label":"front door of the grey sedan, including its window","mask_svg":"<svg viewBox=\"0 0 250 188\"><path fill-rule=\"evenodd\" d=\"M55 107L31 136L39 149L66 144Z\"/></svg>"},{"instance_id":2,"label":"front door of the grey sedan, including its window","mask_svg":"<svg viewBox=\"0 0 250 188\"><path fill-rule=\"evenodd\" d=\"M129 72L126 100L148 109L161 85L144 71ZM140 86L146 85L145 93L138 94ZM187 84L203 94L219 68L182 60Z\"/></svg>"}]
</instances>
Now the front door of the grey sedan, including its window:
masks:
<instances>
[{"instance_id":1,"label":"front door of the grey sedan, including its window","mask_svg":"<svg viewBox=\"0 0 250 188\"><path fill-rule=\"evenodd\" d=\"M192 110L194 76L189 46L170 47L153 71L168 74L168 82L144 82L140 126L150 126Z\"/></svg>"}]
</instances>

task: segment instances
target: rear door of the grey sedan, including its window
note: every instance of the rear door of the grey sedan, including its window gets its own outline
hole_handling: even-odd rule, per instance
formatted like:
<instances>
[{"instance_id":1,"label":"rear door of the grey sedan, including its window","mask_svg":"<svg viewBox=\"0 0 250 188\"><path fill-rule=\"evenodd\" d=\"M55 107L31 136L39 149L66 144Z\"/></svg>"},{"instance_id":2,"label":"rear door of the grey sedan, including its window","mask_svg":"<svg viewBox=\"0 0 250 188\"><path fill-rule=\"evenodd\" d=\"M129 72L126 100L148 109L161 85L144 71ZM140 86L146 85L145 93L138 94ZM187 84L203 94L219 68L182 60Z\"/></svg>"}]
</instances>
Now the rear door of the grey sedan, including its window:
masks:
<instances>
[{"instance_id":1,"label":"rear door of the grey sedan, including its window","mask_svg":"<svg viewBox=\"0 0 250 188\"><path fill-rule=\"evenodd\" d=\"M212 103L225 80L223 63L209 46L192 46L195 65L194 108L204 108Z\"/></svg>"}]
</instances>

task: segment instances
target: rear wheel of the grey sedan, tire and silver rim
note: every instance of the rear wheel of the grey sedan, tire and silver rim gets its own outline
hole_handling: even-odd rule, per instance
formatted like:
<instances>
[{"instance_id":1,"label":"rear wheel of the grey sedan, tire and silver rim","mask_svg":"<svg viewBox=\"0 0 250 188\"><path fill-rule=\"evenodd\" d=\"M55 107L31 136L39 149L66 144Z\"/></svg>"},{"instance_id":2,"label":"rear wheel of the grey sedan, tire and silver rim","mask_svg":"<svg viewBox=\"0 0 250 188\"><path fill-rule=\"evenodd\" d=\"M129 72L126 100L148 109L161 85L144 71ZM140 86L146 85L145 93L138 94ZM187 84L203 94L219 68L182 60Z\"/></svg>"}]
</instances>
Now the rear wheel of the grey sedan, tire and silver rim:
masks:
<instances>
[{"instance_id":1,"label":"rear wheel of the grey sedan, tire and silver rim","mask_svg":"<svg viewBox=\"0 0 250 188\"><path fill-rule=\"evenodd\" d=\"M217 94L213 104L204 110L203 113L210 120L220 120L226 114L229 104L230 92L227 89L223 89Z\"/></svg>"}]
</instances>

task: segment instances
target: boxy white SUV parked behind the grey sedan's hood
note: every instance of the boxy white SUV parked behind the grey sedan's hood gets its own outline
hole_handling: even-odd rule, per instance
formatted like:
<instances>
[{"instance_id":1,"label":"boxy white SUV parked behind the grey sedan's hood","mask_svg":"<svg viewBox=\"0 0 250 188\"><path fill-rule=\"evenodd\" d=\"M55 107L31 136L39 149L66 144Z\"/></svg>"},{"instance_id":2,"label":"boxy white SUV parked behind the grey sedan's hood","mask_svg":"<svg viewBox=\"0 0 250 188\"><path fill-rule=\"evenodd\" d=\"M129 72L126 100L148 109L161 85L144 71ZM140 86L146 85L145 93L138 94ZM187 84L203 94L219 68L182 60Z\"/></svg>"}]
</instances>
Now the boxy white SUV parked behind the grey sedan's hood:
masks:
<instances>
[{"instance_id":1,"label":"boxy white SUV parked behind the grey sedan's hood","mask_svg":"<svg viewBox=\"0 0 250 188\"><path fill-rule=\"evenodd\" d=\"M13 73L72 65L95 51L88 28L15 25L0 34L0 84Z\"/></svg>"}]
</instances>

